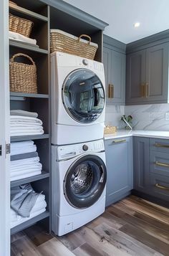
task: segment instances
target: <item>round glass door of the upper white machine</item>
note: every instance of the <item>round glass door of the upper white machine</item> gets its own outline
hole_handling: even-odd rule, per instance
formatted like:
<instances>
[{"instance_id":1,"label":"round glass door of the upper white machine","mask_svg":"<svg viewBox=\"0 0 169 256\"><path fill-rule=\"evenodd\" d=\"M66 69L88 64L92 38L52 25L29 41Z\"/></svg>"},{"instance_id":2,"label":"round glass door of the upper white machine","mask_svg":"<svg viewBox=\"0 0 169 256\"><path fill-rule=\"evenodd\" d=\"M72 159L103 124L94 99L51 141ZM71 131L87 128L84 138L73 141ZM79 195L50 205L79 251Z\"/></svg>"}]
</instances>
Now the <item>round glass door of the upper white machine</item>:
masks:
<instances>
[{"instance_id":1,"label":"round glass door of the upper white machine","mask_svg":"<svg viewBox=\"0 0 169 256\"><path fill-rule=\"evenodd\" d=\"M87 69L71 72L64 80L62 100L67 113L79 123L92 123L105 106L105 91L99 77Z\"/></svg>"}]
</instances>

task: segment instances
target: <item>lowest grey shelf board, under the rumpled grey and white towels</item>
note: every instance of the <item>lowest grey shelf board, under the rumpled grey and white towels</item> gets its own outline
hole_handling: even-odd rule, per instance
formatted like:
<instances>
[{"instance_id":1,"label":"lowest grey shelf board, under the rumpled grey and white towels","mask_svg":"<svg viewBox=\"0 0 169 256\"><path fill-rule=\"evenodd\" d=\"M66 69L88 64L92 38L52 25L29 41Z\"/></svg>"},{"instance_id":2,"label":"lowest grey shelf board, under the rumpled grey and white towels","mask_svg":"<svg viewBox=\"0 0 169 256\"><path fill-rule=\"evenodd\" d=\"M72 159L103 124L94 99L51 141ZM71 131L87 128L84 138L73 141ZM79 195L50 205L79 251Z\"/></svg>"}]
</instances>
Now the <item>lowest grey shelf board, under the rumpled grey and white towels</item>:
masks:
<instances>
[{"instance_id":1,"label":"lowest grey shelf board, under the rumpled grey and white towels","mask_svg":"<svg viewBox=\"0 0 169 256\"><path fill-rule=\"evenodd\" d=\"M23 222L23 223L19 224L16 227L13 227L11 229L11 234L14 234L14 233L19 232L19 231L21 231L23 229L26 229L27 227L30 227L33 224L35 224L36 222L39 222L40 220L45 219L45 218L47 218L49 216L50 216L49 212L43 212L42 214L39 214L36 217L34 217L32 219L29 219L26 222Z\"/></svg>"}]
</instances>

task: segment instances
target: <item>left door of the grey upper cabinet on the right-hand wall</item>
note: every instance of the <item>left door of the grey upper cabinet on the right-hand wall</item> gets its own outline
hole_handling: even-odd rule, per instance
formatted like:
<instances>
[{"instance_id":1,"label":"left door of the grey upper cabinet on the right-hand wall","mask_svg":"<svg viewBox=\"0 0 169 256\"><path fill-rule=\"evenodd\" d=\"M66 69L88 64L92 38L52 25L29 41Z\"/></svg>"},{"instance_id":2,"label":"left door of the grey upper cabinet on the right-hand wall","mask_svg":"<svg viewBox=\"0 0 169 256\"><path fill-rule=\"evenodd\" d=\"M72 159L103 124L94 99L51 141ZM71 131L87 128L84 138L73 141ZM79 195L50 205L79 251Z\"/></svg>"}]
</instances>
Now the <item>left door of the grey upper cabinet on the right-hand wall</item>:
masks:
<instances>
[{"instance_id":1,"label":"left door of the grey upper cabinet on the right-hand wall","mask_svg":"<svg viewBox=\"0 0 169 256\"><path fill-rule=\"evenodd\" d=\"M127 54L126 103L143 102L142 85L145 84L145 50Z\"/></svg>"}]
</instances>

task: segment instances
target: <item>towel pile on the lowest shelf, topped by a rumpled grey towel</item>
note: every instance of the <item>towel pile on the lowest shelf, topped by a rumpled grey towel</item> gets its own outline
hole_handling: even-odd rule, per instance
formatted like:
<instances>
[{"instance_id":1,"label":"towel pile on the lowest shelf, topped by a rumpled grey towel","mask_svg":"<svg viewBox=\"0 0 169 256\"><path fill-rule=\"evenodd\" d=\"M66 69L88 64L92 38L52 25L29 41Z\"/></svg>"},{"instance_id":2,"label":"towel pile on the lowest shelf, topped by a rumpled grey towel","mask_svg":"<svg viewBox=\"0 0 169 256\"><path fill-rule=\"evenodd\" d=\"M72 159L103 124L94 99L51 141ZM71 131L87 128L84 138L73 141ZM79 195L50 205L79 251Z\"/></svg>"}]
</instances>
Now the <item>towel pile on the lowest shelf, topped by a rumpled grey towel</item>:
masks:
<instances>
[{"instance_id":1,"label":"towel pile on the lowest shelf, topped by a rumpled grey towel","mask_svg":"<svg viewBox=\"0 0 169 256\"><path fill-rule=\"evenodd\" d=\"M11 228L46 211L47 202L42 193L36 193L31 184L11 189Z\"/></svg>"}]
</instances>

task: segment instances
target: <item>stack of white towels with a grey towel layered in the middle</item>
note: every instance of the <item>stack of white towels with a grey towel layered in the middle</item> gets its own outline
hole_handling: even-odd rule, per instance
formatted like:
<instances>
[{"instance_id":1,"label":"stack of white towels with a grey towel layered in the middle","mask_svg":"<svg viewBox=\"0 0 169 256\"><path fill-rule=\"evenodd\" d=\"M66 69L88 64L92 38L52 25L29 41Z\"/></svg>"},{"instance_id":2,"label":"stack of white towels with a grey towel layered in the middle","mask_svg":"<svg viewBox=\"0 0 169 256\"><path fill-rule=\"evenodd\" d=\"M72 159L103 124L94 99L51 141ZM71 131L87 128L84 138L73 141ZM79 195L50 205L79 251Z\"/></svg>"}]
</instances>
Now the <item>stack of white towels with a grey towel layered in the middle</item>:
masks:
<instances>
[{"instance_id":1,"label":"stack of white towels with a grey towel layered in the middle","mask_svg":"<svg viewBox=\"0 0 169 256\"><path fill-rule=\"evenodd\" d=\"M42 163L39 163L37 146L34 141L11 143L11 181L25 179L42 174Z\"/></svg>"}]
</instances>

